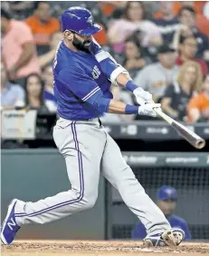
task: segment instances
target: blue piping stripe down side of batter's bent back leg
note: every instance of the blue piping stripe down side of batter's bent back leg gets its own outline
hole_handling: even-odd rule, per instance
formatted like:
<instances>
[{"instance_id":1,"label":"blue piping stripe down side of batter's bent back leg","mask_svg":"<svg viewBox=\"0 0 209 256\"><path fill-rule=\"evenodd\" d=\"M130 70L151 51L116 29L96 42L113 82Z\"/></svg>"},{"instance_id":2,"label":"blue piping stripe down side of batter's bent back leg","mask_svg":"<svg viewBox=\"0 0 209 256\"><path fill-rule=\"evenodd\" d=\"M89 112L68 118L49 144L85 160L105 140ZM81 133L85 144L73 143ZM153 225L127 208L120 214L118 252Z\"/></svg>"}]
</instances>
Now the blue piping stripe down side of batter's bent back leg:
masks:
<instances>
[{"instance_id":1,"label":"blue piping stripe down side of batter's bent back leg","mask_svg":"<svg viewBox=\"0 0 209 256\"><path fill-rule=\"evenodd\" d=\"M76 148L76 150L78 152L80 184L81 184L80 196L78 198L76 198L76 199L73 199L73 200L70 200L70 201L67 201L67 202L60 202L58 204L52 205L51 207L48 207L48 208L43 209L43 210L40 210L38 212L33 212L33 213L29 213L29 214L26 214L26 213L16 213L16 214L14 214L15 218L24 217L24 216L33 217L33 216L42 214L44 212L50 212L50 211L52 211L54 209L57 209L57 208L60 208L62 206L66 206L66 205L69 205L69 204L72 204L72 203L75 203L75 202L80 202L82 200L83 194L84 194L83 166L82 166L82 156L81 156L81 151L80 151L80 148L79 148L78 136L77 136L77 132L76 132L75 123L76 123L75 121L73 121L71 123L71 132L73 134L73 140L74 140L74 143L75 143L75 148Z\"/></svg>"}]
</instances>

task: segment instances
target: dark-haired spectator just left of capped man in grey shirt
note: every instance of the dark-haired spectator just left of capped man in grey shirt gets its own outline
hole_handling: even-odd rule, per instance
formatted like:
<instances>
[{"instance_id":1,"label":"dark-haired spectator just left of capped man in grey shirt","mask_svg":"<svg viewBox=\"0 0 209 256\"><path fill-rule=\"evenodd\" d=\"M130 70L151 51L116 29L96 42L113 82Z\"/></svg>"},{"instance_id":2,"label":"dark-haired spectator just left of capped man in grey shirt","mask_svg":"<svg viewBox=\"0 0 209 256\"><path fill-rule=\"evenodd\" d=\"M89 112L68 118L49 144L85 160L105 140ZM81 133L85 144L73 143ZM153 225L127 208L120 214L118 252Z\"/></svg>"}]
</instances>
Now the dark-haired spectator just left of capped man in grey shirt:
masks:
<instances>
[{"instance_id":1,"label":"dark-haired spectator just left of capped man in grey shirt","mask_svg":"<svg viewBox=\"0 0 209 256\"><path fill-rule=\"evenodd\" d=\"M148 57L142 57L142 49L135 37L129 37L126 40L124 54L125 60L122 65L128 70L132 79L135 79L138 71L151 63Z\"/></svg>"}]
</instances>

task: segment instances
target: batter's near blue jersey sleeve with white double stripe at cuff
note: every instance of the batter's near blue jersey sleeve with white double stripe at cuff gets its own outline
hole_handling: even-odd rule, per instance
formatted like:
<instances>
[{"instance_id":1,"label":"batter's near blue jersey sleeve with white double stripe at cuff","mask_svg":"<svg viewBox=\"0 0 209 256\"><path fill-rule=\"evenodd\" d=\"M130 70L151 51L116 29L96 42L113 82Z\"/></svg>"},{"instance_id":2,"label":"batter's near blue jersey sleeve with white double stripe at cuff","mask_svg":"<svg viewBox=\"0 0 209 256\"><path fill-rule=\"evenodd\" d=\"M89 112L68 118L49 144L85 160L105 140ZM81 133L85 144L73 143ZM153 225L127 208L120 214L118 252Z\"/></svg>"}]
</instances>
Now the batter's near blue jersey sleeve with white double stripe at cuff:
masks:
<instances>
[{"instance_id":1,"label":"batter's near blue jersey sleeve with white double stripe at cuff","mask_svg":"<svg viewBox=\"0 0 209 256\"><path fill-rule=\"evenodd\" d=\"M103 95L98 84L79 67L64 68L57 78L83 102L92 102Z\"/></svg>"}]
</instances>

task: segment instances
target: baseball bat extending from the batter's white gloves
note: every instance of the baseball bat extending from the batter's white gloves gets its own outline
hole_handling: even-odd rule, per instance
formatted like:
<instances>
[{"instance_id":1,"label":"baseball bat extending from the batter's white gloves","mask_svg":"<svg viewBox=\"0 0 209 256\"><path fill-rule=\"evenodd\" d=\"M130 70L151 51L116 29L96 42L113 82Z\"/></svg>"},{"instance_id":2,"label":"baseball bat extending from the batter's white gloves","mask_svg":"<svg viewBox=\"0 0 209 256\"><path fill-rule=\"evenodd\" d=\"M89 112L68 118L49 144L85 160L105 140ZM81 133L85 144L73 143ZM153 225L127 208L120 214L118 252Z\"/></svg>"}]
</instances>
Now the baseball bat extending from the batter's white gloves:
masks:
<instances>
[{"instance_id":1,"label":"baseball bat extending from the batter's white gloves","mask_svg":"<svg viewBox=\"0 0 209 256\"><path fill-rule=\"evenodd\" d=\"M161 109L155 108L155 111L158 114L158 116L165 120L166 123L169 123L180 136L184 137L188 143L192 144L196 149L204 148L205 141L203 138L201 138L196 133L186 128L185 125L176 122L166 113L163 113Z\"/></svg>"}]
</instances>

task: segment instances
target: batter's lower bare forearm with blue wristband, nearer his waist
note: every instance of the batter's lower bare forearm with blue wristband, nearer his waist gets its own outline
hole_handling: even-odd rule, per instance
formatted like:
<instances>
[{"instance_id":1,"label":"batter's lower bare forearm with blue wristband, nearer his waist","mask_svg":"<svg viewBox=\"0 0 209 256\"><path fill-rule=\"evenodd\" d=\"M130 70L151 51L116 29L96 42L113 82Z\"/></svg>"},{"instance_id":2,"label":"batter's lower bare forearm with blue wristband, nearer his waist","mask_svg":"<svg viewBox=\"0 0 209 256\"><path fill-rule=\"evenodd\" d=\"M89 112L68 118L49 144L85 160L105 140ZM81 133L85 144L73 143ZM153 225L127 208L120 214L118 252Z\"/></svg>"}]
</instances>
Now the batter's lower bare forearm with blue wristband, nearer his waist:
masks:
<instances>
[{"instance_id":1,"label":"batter's lower bare forearm with blue wristband, nearer his waist","mask_svg":"<svg viewBox=\"0 0 209 256\"><path fill-rule=\"evenodd\" d=\"M111 100L108 113L131 114L138 113L138 106L128 105L123 102Z\"/></svg>"}]
</instances>

